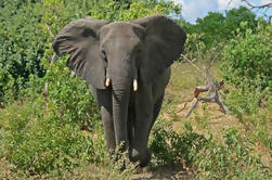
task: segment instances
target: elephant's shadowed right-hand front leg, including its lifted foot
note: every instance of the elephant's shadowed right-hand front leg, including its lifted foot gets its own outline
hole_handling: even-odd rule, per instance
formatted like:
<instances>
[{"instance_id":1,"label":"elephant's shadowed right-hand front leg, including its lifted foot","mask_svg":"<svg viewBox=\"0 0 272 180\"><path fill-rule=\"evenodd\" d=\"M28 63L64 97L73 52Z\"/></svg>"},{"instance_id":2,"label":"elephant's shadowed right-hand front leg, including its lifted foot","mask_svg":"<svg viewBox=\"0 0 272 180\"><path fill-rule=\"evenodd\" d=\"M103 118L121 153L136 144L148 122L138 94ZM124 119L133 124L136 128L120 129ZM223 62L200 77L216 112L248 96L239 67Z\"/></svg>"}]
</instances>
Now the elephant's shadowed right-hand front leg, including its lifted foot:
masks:
<instances>
[{"instance_id":1,"label":"elephant's shadowed right-hand front leg, including its lifted foot","mask_svg":"<svg viewBox=\"0 0 272 180\"><path fill-rule=\"evenodd\" d=\"M135 94L134 136L131 141L129 156L140 166L146 166L151 159L147 149L148 132L153 120L153 101L150 87L141 88Z\"/></svg>"}]
</instances>

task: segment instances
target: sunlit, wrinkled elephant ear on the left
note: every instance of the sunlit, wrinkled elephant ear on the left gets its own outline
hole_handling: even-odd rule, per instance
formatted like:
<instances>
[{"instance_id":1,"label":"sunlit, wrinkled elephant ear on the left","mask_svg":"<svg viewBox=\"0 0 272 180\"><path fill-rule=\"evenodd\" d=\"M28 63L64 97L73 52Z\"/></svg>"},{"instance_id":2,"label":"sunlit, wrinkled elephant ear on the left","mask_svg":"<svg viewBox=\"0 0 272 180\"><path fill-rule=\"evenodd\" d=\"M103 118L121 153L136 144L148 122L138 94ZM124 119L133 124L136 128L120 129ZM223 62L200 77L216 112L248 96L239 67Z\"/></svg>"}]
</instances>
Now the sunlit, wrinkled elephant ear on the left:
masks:
<instances>
[{"instance_id":1,"label":"sunlit, wrinkled elephant ear on the left","mask_svg":"<svg viewBox=\"0 0 272 180\"><path fill-rule=\"evenodd\" d=\"M107 22L92 18L76 20L66 25L53 41L56 54L69 54L67 66L98 89L105 89L105 62L98 36L105 24Z\"/></svg>"}]
</instances>

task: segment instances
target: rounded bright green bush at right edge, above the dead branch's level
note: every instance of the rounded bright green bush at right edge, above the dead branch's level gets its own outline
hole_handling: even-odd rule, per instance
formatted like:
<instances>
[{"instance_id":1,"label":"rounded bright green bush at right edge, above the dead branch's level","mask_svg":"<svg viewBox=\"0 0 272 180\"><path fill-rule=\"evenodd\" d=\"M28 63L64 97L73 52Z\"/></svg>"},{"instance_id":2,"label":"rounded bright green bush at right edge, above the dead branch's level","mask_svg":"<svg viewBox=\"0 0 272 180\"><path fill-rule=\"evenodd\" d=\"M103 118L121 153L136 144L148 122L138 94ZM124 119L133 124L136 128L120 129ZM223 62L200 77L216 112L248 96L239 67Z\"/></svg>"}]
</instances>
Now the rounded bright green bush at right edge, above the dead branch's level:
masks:
<instances>
[{"instance_id":1,"label":"rounded bright green bush at right edge, above the dead branch's level","mask_svg":"<svg viewBox=\"0 0 272 180\"><path fill-rule=\"evenodd\" d=\"M239 33L245 29L245 35ZM238 35L223 50L224 64L221 67L223 78L236 87L242 87L245 80L251 85L256 79L262 89L272 88L272 27L261 25L257 33L247 28L247 23L241 23Z\"/></svg>"}]
</instances>

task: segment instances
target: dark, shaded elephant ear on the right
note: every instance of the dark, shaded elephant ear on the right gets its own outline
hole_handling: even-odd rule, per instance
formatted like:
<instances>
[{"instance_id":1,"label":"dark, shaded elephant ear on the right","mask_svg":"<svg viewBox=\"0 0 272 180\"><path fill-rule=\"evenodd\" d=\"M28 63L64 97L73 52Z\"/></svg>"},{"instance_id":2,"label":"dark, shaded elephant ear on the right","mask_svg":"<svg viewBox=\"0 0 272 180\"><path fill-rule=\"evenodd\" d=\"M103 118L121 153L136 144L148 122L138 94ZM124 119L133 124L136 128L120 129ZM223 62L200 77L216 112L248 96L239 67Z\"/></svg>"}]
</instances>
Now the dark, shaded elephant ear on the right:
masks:
<instances>
[{"instance_id":1,"label":"dark, shaded elephant ear on the right","mask_svg":"<svg viewBox=\"0 0 272 180\"><path fill-rule=\"evenodd\" d=\"M186 35L179 25L164 15L146 16L131 23L143 26L146 31L140 76L144 82L150 83L179 59Z\"/></svg>"}]
</instances>

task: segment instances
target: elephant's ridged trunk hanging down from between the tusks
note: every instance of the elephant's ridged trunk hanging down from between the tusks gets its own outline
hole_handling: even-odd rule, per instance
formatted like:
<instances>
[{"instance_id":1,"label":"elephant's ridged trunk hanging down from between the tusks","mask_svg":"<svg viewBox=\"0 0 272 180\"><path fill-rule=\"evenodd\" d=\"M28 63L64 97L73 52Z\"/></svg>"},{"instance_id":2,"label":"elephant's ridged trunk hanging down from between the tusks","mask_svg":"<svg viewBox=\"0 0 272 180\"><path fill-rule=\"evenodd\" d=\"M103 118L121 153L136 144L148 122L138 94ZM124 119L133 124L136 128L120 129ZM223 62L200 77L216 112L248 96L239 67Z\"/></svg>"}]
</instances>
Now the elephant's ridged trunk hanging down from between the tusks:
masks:
<instances>
[{"instance_id":1,"label":"elephant's ridged trunk hanging down from between the tusks","mask_svg":"<svg viewBox=\"0 0 272 180\"><path fill-rule=\"evenodd\" d=\"M126 82L124 82L126 80ZM120 145L120 151L125 151L128 146L128 105L130 87L132 81L124 79L122 82L112 81L113 87L113 119L115 129L116 144Z\"/></svg>"}]
</instances>

